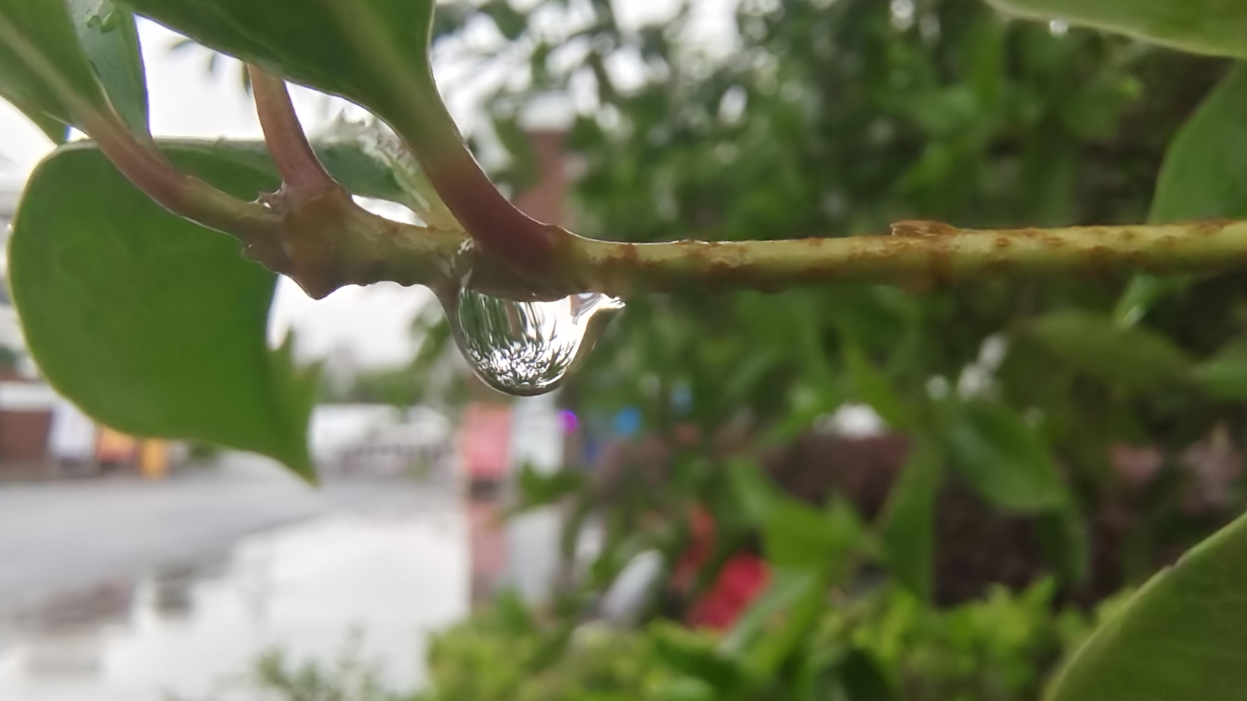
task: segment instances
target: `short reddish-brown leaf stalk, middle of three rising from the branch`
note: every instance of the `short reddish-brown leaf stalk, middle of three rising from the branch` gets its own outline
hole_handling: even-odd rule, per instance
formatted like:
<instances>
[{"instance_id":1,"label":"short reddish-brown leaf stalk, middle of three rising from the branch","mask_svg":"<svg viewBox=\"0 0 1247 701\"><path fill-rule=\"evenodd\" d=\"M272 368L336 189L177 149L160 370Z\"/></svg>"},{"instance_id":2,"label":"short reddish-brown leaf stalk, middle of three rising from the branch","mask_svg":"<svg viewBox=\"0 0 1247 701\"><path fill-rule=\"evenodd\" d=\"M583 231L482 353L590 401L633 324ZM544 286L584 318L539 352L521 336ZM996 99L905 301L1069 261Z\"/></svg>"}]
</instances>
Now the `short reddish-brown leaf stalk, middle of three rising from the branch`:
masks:
<instances>
[{"instance_id":1,"label":"short reddish-brown leaf stalk, middle of three rising from the branch","mask_svg":"<svg viewBox=\"0 0 1247 701\"><path fill-rule=\"evenodd\" d=\"M247 71L251 74L264 142L273 156L277 172L282 175L289 203L298 207L342 190L308 143L299 117L294 114L286 81L257 66L248 65Z\"/></svg>"}]
</instances>

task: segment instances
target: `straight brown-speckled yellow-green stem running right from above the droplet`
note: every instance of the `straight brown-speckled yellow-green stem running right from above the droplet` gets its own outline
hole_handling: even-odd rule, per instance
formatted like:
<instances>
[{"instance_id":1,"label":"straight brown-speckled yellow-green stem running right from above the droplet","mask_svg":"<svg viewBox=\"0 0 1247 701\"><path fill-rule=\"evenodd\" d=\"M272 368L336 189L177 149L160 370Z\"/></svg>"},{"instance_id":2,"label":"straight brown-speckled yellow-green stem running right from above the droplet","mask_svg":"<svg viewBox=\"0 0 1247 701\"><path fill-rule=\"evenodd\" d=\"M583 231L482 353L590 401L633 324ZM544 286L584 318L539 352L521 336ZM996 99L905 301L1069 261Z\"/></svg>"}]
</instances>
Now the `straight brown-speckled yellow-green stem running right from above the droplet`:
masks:
<instances>
[{"instance_id":1,"label":"straight brown-speckled yellow-green stem running right from above the droplet","mask_svg":"<svg viewBox=\"0 0 1247 701\"><path fill-rule=\"evenodd\" d=\"M959 230L902 222L890 236L575 247L582 287L612 294L702 287L771 289L812 282L925 287L989 274L1221 269L1247 263L1247 222L1052 230Z\"/></svg>"}]
</instances>

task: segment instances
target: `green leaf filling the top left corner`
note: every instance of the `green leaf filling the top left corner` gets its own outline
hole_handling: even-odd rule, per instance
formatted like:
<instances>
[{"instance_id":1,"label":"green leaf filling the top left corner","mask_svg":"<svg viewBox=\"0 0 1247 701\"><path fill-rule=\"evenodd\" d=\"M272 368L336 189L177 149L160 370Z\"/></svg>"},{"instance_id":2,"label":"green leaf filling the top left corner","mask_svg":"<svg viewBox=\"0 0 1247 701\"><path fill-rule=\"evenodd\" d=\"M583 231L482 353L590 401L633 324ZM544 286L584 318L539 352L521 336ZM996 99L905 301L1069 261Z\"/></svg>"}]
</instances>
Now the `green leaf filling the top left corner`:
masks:
<instances>
[{"instance_id":1,"label":"green leaf filling the top left corner","mask_svg":"<svg viewBox=\"0 0 1247 701\"><path fill-rule=\"evenodd\" d=\"M0 0L0 96L56 142L75 123L66 99L107 109L64 0Z\"/></svg>"}]
</instances>

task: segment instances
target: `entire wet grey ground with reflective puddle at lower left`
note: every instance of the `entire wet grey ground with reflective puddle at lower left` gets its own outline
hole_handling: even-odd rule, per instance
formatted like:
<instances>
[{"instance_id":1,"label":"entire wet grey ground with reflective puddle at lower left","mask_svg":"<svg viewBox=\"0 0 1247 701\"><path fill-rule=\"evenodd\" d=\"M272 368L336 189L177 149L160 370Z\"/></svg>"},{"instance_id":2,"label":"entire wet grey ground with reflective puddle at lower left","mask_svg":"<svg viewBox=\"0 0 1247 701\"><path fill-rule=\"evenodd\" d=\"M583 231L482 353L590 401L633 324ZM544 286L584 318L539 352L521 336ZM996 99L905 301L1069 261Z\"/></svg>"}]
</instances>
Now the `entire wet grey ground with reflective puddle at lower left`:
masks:
<instances>
[{"instance_id":1,"label":"entire wet grey ground with reflective puddle at lower left","mask_svg":"<svg viewBox=\"0 0 1247 701\"><path fill-rule=\"evenodd\" d=\"M456 498L217 475L0 488L0 699L236 699L272 647L359 655L394 689L466 612Z\"/></svg>"}]
</instances>

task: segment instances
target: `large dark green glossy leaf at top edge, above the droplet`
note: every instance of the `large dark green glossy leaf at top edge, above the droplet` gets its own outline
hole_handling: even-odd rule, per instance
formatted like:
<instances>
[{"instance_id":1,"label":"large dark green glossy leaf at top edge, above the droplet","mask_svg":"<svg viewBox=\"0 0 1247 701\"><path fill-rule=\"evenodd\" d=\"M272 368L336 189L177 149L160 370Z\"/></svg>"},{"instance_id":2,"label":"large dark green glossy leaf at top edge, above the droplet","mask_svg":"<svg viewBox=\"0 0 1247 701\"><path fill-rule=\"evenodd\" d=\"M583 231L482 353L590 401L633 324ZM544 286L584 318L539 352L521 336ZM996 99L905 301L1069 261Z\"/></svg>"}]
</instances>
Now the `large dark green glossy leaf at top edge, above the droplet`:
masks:
<instances>
[{"instance_id":1,"label":"large dark green glossy leaf at top edge, above the droplet","mask_svg":"<svg viewBox=\"0 0 1247 701\"><path fill-rule=\"evenodd\" d=\"M126 0L200 44L379 115L433 106L434 0ZM440 106L439 106L440 107Z\"/></svg>"}]
</instances>

